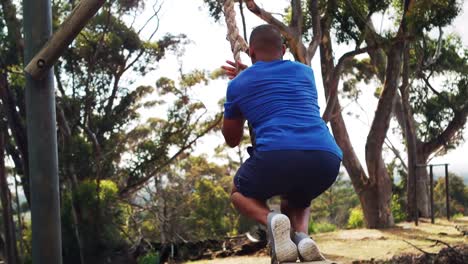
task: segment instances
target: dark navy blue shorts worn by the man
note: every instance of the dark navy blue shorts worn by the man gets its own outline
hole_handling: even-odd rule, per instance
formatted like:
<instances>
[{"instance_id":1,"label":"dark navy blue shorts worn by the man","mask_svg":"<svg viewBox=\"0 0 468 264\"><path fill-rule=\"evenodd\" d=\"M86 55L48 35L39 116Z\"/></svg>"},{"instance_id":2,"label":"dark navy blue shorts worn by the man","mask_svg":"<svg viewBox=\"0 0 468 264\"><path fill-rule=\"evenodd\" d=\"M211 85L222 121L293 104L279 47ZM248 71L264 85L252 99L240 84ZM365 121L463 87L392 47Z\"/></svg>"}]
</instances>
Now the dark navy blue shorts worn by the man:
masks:
<instances>
[{"instance_id":1,"label":"dark navy blue shorts worn by the man","mask_svg":"<svg viewBox=\"0 0 468 264\"><path fill-rule=\"evenodd\" d=\"M336 180L341 160L327 151L249 151L234 177L246 197L266 201L280 195L291 206L306 208Z\"/></svg>"}]
</instances>

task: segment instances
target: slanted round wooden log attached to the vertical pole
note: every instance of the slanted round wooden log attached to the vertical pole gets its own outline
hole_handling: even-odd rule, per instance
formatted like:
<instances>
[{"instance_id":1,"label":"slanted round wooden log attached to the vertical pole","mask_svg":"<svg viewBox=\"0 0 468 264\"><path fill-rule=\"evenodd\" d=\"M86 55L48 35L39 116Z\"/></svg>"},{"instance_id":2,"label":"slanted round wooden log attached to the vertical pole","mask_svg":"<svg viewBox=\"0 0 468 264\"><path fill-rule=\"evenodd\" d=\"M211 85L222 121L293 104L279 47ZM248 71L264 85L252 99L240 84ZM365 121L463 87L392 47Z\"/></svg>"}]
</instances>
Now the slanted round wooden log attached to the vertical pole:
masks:
<instances>
[{"instance_id":1,"label":"slanted round wooden log attached to the vertical pole","mask_svg":"<svg viewBox=\"0 0 468 264\"><path fill-rule=\"evenodd\" d=\"M44 78L63 51L72 43L105 2L105 0L81 0L52 38L29 62L25 72L37 80Z\"/></svg>"}]
</instances>

